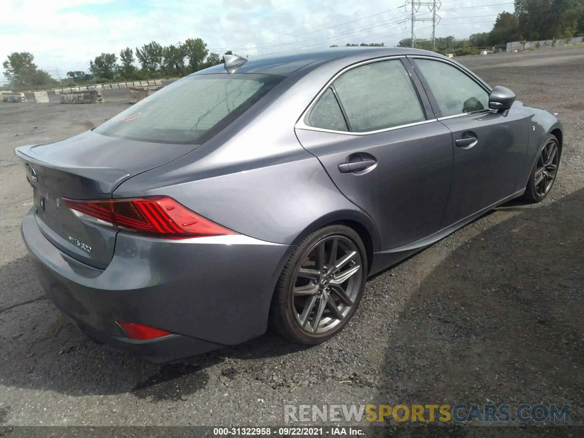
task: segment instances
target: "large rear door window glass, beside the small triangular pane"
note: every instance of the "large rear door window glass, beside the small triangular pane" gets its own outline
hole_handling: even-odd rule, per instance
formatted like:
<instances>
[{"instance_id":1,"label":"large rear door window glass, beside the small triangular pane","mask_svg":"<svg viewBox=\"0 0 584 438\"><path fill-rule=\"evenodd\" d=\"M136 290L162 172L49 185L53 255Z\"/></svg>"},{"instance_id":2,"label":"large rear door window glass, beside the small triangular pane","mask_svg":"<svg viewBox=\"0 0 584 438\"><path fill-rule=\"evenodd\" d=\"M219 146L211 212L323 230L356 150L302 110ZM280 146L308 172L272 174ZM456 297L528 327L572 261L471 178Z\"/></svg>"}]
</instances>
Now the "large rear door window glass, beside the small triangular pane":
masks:
<instances>
[{"instance_id":1,"label":"large rear door window glass, beside the small triangular pane","mask_svg":"<svg viewBox=\"0 0 584 438\"><path fill-rule=\"evenodd\" d=\"M334 87L352 131L366 133L426 120L400 60L354 68L338 78Z\"/></svg>"}]
</instances>

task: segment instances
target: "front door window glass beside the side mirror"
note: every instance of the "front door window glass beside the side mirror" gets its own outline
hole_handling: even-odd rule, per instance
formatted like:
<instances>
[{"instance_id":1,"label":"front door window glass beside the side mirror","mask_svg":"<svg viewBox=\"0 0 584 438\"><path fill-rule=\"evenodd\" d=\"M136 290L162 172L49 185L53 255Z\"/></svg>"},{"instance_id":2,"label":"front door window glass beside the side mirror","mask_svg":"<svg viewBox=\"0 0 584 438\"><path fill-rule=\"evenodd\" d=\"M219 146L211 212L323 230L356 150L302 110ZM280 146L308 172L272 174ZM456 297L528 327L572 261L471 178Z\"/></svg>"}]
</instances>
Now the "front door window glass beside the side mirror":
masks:
<instances>
[{"instance_id":1,"label":"front door window glass beside the side mirror","mask_svg":"<svg viewBox=\"0 0 584 438\"><path fill-rule=\"evenodd\" d=\"M489 93L458 68L440 61L416 59L414 62L436 99L439 117L489 108Z\"/></svg>"}]
</instances>

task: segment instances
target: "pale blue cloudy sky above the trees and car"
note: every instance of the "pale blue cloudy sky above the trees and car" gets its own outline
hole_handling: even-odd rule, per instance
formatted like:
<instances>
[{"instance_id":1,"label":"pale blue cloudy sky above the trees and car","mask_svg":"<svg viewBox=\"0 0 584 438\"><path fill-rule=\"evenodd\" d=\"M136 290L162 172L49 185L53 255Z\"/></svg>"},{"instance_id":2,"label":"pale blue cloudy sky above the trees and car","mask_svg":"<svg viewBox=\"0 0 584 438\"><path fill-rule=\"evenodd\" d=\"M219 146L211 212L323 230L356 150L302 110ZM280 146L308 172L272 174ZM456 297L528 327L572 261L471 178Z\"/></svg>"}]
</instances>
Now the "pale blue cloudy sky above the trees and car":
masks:
<instances>
[{"instance_id":1,"label":"pale blue cloudy sky above the trees and car","mask_svg":"<svg viewBox=\"0 0 584 438\"><path fill-rule=\"evenodd\" d=\"M422 0L423 1L423 0ZM88 61L151 40L163 45L200 37L210 51L240 55L385 43L409 37L404 0L1 0L0 60L29 51L40 68L61 76ZM402 6L400 8L400 6ZM468 37L491 30L512 0L442 0L437 36ZM432 15L420 6L419 18ZM416 23L429 37L431 23ZM0 82L2 82L0 79Z\"/></svg>"}]
</instances>

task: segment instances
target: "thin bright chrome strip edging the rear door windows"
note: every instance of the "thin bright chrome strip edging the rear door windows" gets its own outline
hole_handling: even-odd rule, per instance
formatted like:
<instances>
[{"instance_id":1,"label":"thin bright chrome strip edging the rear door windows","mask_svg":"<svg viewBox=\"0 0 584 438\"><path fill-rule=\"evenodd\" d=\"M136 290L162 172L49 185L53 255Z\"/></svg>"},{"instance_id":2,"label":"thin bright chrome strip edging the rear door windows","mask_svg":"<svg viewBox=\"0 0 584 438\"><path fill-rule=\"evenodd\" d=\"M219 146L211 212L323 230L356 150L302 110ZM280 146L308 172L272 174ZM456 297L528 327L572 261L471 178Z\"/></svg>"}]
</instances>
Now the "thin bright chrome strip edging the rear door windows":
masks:
<instances>
[{"instance_id":1,"label":"thin bright chrome strip edging the rear door windows","mask_svg":"<svg viewBox=\"0 0 584 438\"><path fill-rule=\"evenodd\" d=\"M374 62L402 60L402 59L405 59L406 57L407 57L407 55L391 55L391 56L384 56L384 57L379 57L379 58L372 58L369 60L356 62L355 64L347 65L347 67L338 71L331 79L329 79L328 82L326 82L325 86L322 87L321 91L319 91L318 94L315 96L315 98L312 99L312 102L310 103L310 105L308 105L307 109L304 110L304 112L302 113L302 115L300 116L300 118L298 119L296 124L294 125L294 129L301 129L301 130L305 130L305 131L318 131L318 132L333 133L333 134L345 134L345 135L370 135L370 134L384 133L387 131L393 131L393 130L401 129L401 128L408 128L411 126L418 126L418 125L432 123L434 121L437 121L438 119L422 120L422 121L416 121L414 123L392 126L391 128L378 129L375 131L366 131L363 133L357 133L354 131L336 131L336 130L332 130L332 129L317 128L317 127L310 126L310 125L307 125L306 123L304 123L304 119L306 119L306 117L308 116L308 113L310 113L312 108L316 105L316 103L318 102L318 99L320 99L321 96L324 95L326 90L331 88L332 84L336 81L336 79L338 79L340 76L345 74L347 71L362 67L363 65L373 64ZM434 59L432 57L429 57L429 58ZM406 72L407 72L407 69L406 69ZM416 89L416 84L414 84L413 81L412 81L412 86L413 86L413 89L416 91L416 93L419 92ZM420 103L420 108L422 109L422 112L424 112L424 107L423 107L422 103L421 102L419 102L419 103Z\"/></svg>"}]
</instances>

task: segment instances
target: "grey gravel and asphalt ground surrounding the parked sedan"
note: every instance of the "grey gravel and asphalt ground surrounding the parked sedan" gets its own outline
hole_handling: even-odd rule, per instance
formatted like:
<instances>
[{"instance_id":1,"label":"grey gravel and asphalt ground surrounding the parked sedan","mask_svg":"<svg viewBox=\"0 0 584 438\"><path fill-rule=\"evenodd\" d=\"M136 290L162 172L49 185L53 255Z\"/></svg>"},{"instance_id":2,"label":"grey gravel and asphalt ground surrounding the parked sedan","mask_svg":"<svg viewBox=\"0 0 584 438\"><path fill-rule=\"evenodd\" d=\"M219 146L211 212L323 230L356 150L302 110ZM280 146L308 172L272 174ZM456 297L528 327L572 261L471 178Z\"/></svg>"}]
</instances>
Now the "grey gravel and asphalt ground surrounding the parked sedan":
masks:
<instances>
[{"instance_id":1,"label":"grey gravel and asphalt ground surrounding the parked sedan","mask_svg":"<svg viewBox=\"0 0 584 438\"><path fill-rule=\"evenodd\" d=\"M77 134L127 105L0 105L0 424L265 426L283 424L284 404L491 401L570 404L581 425L584 50L457 59L559 113L566 138L550 197L506 204L378 274L324 345L299 349L268 334L180 364L147 363L78 333L44 298L20 238L32 191L13 148ZM509 431L480 429L388 432Z\"/></svg>"}]
</instances>

